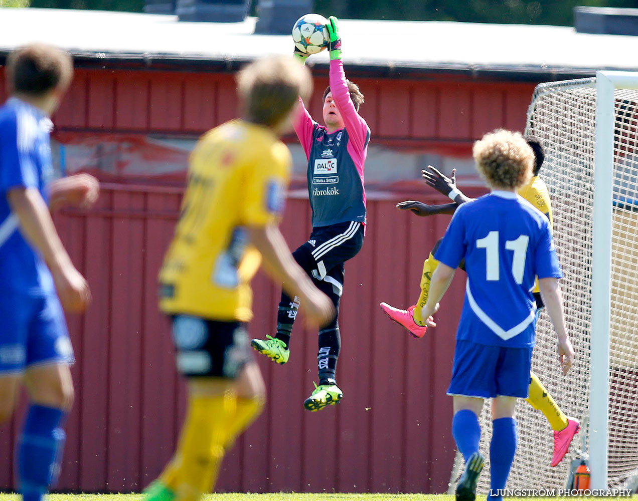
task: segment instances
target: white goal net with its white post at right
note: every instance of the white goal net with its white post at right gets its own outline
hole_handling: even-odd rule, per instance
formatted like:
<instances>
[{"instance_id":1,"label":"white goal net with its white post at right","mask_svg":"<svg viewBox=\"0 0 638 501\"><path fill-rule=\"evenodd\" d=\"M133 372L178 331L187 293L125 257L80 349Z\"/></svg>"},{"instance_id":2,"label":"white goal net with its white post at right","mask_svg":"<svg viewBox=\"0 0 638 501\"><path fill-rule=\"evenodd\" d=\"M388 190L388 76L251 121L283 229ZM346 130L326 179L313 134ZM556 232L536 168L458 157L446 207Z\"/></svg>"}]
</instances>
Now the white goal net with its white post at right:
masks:
<instances>
[{"instance_id":1,"label":"white goal net with its white post at right","mask_svg":"<svg viewBox=\"0 0 638 501\"><path fill-rule=\"evenodd\" d=\"M602 72L597 78L617 73ZM567 416L591 425L581 427L565 460L552 468L551 427L540 411L519 401L519 446L508 488L563 488L570 462L581 449L591 453L592 479L600 475L593 488L604 486L605 470L609 488L623 486L638 472L638 90L631 88L638 88L638 81L627 84L625 78L611 91L607 87L605 121L597 78L538 85L526 127L545 148L540 176L551 196L554 240L565 275L565 319L576 353L574 367L563 376L556 335L543 312L532 370ZM601 160L603 150L609 152L608 161ZM596 217L595 185L600 194ZM593 312L597 328L592 327ZM486 458L488 407L480 419ZM607 461L600 460L605 444ZM489 490L489 463L479 490Z\"/></svg>"}]
</instances>

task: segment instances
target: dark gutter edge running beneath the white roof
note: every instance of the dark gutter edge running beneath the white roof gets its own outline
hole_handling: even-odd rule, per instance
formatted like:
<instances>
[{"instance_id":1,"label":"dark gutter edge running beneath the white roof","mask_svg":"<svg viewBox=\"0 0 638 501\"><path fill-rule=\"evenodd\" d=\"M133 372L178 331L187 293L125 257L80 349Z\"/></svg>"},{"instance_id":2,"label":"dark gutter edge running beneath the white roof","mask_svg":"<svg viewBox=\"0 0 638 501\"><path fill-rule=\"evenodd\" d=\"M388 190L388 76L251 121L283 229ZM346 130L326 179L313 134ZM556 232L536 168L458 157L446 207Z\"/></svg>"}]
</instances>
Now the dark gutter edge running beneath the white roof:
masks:
<instances>
[{"instance_id":1,"label":"dark gutter edge running beneath the white roof","mask_svg":"<svg viewBox=\"0 0 638 501\"><path fill-rule=\"evenodd\" d=\"M0 64L13 48L0 47ZM211 71L234 72L255 58L225 57L215 58L193 54L140 54L123 52L87 52L70 50L76 68L104 69L151 69L158 71ZM309 64L319 73L326 73L329 64L315 62ZM346 61L348 72L356 76L394 77L419 79L435 76L462 76L471 80L514 80L517 82L538 82L538 80L568 80L595 76L600 69L614 70L623 68L542 68L537 64L468 64L463 62L387 62L374 60Z\"/></svg>"}]
</instances>

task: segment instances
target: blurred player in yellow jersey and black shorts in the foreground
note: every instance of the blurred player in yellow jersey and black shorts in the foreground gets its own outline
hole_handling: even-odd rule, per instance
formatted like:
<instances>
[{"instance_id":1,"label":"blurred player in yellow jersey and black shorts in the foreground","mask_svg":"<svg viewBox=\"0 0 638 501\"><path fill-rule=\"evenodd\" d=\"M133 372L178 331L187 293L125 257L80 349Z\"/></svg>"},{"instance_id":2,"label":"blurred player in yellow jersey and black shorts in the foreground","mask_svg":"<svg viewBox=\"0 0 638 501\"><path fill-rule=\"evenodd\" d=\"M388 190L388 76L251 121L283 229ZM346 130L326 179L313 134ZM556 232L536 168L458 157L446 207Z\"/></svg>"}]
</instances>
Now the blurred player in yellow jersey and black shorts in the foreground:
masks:
<instances>
[{"instance_id":1,"label":"blurred player in yellow jersey and black shorts in the foreground","mask_svg":"<svg viewBox=\"0 0 638 501\"><path fill-rule=\"evenodd\" d=\"M159 272L160 308L172 320L177 369L188 378L188 412L172 461L145 500L198 500L213 488L226 449L262 409L264 384L251 356L250 280L263 257L308 318L326 324L332 302L288 251L278 223L297 96L307 98L307 68L262 59L237 78L243 118L204 134L190 157L175 236Z\"/></svg>"}]
</instances>

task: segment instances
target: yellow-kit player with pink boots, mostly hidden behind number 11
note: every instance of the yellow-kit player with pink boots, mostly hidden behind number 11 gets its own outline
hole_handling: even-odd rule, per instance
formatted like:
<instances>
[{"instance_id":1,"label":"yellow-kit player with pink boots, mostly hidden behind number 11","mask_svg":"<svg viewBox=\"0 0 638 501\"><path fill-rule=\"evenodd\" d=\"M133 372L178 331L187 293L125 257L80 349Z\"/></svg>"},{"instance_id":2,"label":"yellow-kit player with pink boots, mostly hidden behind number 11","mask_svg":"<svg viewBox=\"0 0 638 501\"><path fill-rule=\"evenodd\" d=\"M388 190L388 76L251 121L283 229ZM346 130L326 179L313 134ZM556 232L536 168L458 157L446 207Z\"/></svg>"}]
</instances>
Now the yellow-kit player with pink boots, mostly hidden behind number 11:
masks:
<instances>
[{"instance_id":1,"label":"yellow-kit player with pink boots, mostly hidden behind number 11","mask_svg":"<svg viewBox=\"0 0 638 501\"><path fill-rule=\"evenodd\" d=\"M545 214L547 219L549 219L550 228L553 228L552 207L551 201L549 200L549 192L547 191L545 182L538 177L540 168L545 160L545 152L538 138L533 136L524 136L524 139L534 152L535 161L533 177L530 182L519 188L518 194L530 202L533 207L536 207L540 210L540 212ZM397 204L397 208L401 210L412 210L414 214L420 216L454 214L454 211L457 207L459 207L459 205L473 200L457 189L454 171L452 171L452 178L450 179L445 177L435 168L431 167L430 169L431 172L423 171L423 177L426 179L427 184L441 194L449 196L449 198L452 199L452 203L443 205L427 205L419 201L408 200ZM434 244L434 249L432 249L432 252L426 259L425 263L423 263L421 293L417 304L408 308L408 310L397 309L387 303L380 304L387 316L404 326L410 334L415 337L422 337L427 329L421 317L420 310L427 302L430 279L432 277L432 273L434 273L434 270L436 270L436 267L438 266L438 261L434 259L433 254L436 252L436 249L438 249L440 242L441 239ZM464 269L463 263L461 263L460 267ZM540 298L538 282L533 291L533 295L537 303L538 315L540 314L540 310L544 307L543 301ZM558 407L552 396L547 391L547 388L545 388L544 384L540 382L537 375L533 372L530 373L530 396L526 400L532 407L534 407L534 409L540 410L544 414L547 421L549 421L549 425L552 427L554 432L554 453L552 455L551 465L556 467L558 463L563 460L565 454L567 454L569 445L571 444L574 435L579 430L580 423L577 419L565 416L565 413L560 409L560 407Z\"/></svg>"}]
</instances>

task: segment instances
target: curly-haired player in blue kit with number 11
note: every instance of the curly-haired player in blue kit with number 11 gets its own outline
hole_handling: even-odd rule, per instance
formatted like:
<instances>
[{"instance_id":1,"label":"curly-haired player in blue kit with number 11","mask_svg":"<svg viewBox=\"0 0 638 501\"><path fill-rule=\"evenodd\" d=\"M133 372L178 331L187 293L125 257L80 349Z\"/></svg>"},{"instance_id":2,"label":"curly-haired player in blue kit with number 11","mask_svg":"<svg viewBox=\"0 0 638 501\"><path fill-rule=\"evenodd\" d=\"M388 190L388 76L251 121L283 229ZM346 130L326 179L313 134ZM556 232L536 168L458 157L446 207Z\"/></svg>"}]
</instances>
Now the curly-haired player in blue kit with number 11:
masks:
<instances>
[{"instance_id":1,"label":"curly-haired player in blue kit with number 11","mask_svg":"<svg viewBox=\"0 0 638 501\"><path fill-rule=\"evenodd\" d=\"M456 498L476 497L484 465L479 415L484 400L492 398L488 499L501 500L516 453L516 399L528 397L530 384L535 277L558 334L563 374L572 365L574 350L563 318L562 273L549 221L516 193L530 180L532 150L521 134L500 130L475 143L473 155L492 191L457 208L436 251L440 265L422 317L436 326L432 315L464 259L468 279L448 389L454 398L452 435L466 461Z\"/></svg>"}]
</instances>

